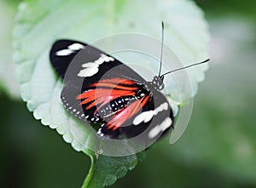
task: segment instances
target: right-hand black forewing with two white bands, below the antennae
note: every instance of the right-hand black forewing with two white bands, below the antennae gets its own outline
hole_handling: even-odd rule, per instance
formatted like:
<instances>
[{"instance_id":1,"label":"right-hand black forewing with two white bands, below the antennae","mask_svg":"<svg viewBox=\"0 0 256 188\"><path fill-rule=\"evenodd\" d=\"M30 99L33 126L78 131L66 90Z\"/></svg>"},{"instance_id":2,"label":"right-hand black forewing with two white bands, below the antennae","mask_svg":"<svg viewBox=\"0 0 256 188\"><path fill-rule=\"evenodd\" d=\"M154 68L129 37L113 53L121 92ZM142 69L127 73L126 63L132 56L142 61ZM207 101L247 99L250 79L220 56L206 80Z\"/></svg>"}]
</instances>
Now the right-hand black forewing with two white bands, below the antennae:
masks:
<instances>
[{"instance_id":1,"label":"right-hand black forewing with two white bands, below the antennae","mask_svg":"<svg viewBox=\"0 0 256 188\"><path fill-rule=\"evenodd\" d=\"M174 128L173 121L172 108L164 94L152 90L147 107L144 106L143 111L125 122L129 126L123 126L119 131L127 138L135 138L140 143L151 145L170 128ZM140 136L137 137L137 135Z\"/></svg>"}]
</instances>

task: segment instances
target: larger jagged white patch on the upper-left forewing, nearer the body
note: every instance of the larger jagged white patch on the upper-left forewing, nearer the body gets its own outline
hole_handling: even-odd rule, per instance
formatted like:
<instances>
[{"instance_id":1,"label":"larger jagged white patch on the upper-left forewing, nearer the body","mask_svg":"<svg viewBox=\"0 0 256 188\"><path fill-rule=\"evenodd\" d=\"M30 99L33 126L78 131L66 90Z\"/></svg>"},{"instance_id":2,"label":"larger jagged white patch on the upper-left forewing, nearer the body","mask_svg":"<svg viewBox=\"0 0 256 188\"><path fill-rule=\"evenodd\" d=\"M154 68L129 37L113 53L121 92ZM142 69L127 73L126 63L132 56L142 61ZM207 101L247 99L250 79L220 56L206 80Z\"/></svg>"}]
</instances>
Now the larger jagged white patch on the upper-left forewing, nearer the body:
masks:
<instances>
[{"instance_id":1,"label":"larger jagged white patch on the upper-left forewing, nearer the body","mask_svg":"<svg viewBox=\"0 0 256 188\"><path fill-rule=\"evenodd\" d=\"M84 63L81 71L79 71L79 77L91 77L95 75L99 71L99 66L104 62L113 61L113 57L109 57L108 55L101 54L100 58L94 62Z\"/></svg>"}]
</instances>

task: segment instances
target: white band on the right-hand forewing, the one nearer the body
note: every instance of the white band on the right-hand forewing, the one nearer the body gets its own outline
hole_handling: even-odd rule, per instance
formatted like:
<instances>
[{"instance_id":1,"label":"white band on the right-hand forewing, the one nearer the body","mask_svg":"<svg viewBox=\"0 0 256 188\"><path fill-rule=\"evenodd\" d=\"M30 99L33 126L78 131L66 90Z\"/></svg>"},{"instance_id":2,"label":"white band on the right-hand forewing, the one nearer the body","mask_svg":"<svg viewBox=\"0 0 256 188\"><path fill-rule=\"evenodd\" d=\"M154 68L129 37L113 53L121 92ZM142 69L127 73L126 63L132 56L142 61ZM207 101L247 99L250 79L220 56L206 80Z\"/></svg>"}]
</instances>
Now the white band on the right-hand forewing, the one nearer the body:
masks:
<instances>
[{"instance_id":1,"label":"white band on the right-hand forewing, the one nearer the body","mask_svg":"<svg viewBox=\"0 0 256 188\"><path fill-rule=\"evenodd\" d=\"M154 111L143 111L141 114L134 118L133 124L138 125L142 122L149 122L153 116L156 116L160 111L167 111L168 104L165 102L154 109Z\"/></svg>"}]
</instances>

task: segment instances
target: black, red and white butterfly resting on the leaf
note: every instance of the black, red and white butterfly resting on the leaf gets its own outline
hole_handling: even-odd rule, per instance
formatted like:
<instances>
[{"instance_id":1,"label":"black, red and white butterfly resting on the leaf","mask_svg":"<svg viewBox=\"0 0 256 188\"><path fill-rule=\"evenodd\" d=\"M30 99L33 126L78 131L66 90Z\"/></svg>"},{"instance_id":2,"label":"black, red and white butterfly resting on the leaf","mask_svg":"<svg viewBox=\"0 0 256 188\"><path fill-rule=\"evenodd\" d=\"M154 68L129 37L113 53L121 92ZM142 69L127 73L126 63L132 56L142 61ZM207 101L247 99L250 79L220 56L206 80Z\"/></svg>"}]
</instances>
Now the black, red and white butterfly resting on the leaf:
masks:
<instances>
[{"instance_id":1,"label":"black, red and white butterfly resting on the leaf","mask_svg":"<svg viewBox=\"0 0 256 188\"><path fill-rule=\"evenodd\" d=\"M74 60L79 53L82 58ZM143 133L143 139L156 140L173 128L171 105L160 92L164 77L148 82L113 56L73 40L56 41L49 59L64 79L63 105L100 137L129 139Z\"/></svg>"}]
</instances>

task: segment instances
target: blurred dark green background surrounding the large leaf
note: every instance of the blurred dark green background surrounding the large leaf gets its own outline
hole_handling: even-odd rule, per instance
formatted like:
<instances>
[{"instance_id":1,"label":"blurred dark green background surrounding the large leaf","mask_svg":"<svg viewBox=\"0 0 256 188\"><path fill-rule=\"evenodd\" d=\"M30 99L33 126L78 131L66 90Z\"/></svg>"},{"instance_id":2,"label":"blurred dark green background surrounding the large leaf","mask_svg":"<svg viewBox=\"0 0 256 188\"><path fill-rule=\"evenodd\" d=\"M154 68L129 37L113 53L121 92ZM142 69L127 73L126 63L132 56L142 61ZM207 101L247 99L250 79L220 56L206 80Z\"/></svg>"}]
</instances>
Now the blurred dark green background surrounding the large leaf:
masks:
<instances>
[{"instance_id":1,"label":"blurred dark green background surrounding the large leaf","mask_svg":"<svg viewBox=\"0 0 256 188\"><path fill-rule=\"evenodd\" d=\"M212 60L189 128L175 145L161 140L113 188L256 187L256 2L196 2L210 25ZM2 92L0 104L0 186L79 187L89 157L34 120L24 102Z\"/></svg>"}]
</instances>

